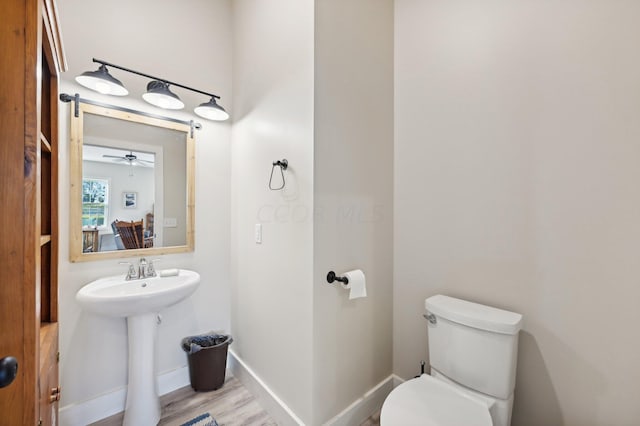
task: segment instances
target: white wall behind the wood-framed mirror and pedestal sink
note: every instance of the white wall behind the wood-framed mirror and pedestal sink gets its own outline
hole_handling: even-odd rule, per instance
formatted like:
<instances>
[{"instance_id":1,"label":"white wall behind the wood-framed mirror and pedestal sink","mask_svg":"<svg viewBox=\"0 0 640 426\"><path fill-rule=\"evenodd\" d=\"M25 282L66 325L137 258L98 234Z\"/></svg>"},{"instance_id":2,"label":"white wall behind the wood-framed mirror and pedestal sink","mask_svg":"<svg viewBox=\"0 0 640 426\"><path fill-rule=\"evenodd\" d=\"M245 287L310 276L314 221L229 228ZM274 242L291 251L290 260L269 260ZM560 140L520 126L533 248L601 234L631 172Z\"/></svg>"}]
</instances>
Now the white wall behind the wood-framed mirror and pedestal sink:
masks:
<instances>
[{"instance_id":1,"label":"white wall behind the wood-framed mirror and pedestal sink","mask_svg":"<svg viewBox=\"0 0 640 426\"><path fill-rule=\"evenodd\" d=\"M157 72L160 77L212 90L231 107L231 31L229 1L166 3L154 1L110 2L61 0L58 2L70 71L61 90L82 97L116 103L156 114L195 119L196 132L196 245L193 253L167 255L160 268L194 269L202 282L189 299L162 312L159 327L157 371L186 365L179 342L184 336L212 329L229 330L229 228L230 228L230 126L199 119L189 112L169 113L133 96L101 96L68 81L94 69L92 56L133 69ZM150 22L153 24L147 25ZM168 29L177 28L176 31ZM127 46L127 48L123 48ZM131 89L143 88L140 77L113 71ZM175 90L179 92L178 89ZM187 103L190 95L179 92ZM204 100L199 100L204 102ZM197 102L197 101L196 101ZM194 102L195 103L195 102ZM193 105L193 104L191 104ZM72 264L69 259L68 209L68 104L61 106L60 128L60 352L61 406L70 406L112 392L127 383L127 342L124 319L83 312L75 293L89 281L124 274L116 261ZM133 259L134 261L136 259Z\"/></svg>"}]
</instances>

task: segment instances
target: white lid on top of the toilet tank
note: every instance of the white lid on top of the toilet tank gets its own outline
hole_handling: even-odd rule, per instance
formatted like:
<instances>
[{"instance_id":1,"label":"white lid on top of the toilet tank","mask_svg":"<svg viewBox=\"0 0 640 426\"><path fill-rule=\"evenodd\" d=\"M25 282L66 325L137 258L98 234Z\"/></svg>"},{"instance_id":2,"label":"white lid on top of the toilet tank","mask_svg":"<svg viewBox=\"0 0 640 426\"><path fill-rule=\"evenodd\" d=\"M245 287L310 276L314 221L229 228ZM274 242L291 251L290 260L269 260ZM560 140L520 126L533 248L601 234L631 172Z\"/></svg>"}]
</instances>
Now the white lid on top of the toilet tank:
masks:
<instances>
[{"instance_id":1,"label":"white lid on top of the toilet tank","mask_svg":"<svg viewBox=\"0 0 640 426\"><path fill-rule=\"evenodd\" d=\"M424 301L427 312L468 327L502 334L516 334L522 315L454 297L436 295Z\"/></svg>"}]
</instances>

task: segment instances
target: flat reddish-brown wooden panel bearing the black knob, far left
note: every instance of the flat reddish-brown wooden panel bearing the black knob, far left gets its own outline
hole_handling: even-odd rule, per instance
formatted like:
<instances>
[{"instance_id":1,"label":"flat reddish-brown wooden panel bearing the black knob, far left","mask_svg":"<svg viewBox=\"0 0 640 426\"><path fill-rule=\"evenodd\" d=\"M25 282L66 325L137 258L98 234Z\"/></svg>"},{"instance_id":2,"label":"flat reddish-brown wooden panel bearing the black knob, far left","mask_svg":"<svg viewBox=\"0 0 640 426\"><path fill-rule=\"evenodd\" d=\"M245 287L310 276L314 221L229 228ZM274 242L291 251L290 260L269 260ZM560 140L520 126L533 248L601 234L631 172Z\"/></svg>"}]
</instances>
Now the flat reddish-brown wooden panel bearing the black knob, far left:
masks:
<instances>
[{"instance_id":1,"label":"flat reddish-brown wooden panel bearing the black knob, far left","mask_svg":"<svg viewBox=\"0 0 640 426\"><path fill-rule=\"evenodd\" d=\"M18 5L16 5L17 3ZM21 2L0 9L0 358L18 359L18 375L0 388L3 423L23 424L25 382L24 292L26 220L24 214L26 10ZM17 62L17 63L16 63ZM33 349L33 347L31 348Z\"/></svg>"}]
</instances>

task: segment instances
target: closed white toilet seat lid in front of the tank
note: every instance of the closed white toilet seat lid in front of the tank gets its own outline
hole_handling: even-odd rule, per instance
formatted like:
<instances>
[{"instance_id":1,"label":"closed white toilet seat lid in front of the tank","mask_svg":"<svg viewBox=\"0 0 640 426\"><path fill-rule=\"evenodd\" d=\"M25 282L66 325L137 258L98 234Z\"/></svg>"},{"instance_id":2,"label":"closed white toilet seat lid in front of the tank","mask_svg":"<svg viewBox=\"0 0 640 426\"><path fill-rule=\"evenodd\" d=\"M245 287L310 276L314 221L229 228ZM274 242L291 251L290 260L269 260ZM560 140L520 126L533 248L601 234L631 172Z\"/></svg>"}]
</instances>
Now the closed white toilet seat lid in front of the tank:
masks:
<instances>
[{"instance_id":1,"label":"closed white toilet seat lid in front of the tank","mask_svg":"<svg viewBox=\"0 0 640 426\"><path fill-rule=\"evenodd\" d=\"M381 426L492 426L489 407L427 374L407 380L384 401Z\"/></svg>"}]
</instances>

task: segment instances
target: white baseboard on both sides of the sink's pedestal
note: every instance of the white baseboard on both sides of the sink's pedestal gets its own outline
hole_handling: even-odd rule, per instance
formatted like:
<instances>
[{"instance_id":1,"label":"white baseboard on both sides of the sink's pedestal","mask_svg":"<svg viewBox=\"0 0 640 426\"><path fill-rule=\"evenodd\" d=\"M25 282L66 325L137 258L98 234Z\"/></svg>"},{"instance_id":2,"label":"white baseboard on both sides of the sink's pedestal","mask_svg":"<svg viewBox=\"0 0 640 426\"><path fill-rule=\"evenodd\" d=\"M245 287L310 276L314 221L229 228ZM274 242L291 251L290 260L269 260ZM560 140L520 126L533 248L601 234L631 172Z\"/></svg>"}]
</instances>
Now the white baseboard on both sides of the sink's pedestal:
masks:
<instances>
[{"instance_id":1,"label":"white baseboard on both sides of the sink's pedestal","mask_svg":"<svg viewBox=\"0 0 640 426\"><path fill-rule=\"evenodd\" d=\"M158 393L164 395L189 383L189 368L177 368L158 376ZM127 388L123 386L87 401L65 405L60 408L60 425L84 426L118 414L124 411L126 398Z\"/></svg>"}]
</instances>

